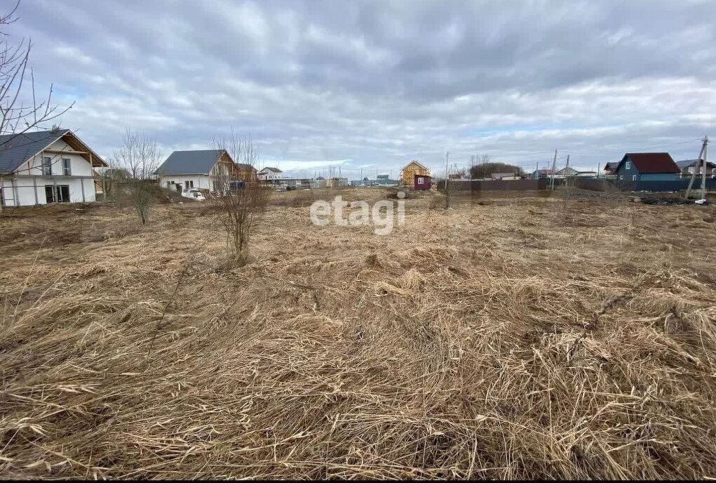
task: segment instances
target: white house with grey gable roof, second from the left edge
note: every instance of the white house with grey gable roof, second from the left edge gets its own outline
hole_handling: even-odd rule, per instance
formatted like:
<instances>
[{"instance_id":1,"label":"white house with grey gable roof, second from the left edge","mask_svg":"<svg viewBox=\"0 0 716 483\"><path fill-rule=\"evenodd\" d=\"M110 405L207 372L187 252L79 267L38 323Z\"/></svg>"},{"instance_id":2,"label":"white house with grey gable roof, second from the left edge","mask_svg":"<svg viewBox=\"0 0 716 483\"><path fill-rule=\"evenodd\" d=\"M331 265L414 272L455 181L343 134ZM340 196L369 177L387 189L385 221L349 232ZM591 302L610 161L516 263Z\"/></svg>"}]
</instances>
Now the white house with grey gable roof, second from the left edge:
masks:
<instances>
[{"instance_id":1,"label":"white house with grey gable roof, second from the left edge","mask_svg":"<svg viewBox=\"0 0 716 483\"><path fill-rule=\"evenodd\" d=\"M233 178L236 170L225 149L205 149L174 151L155 174L162 188L221 191L221 180Z\"/></svg>"}]
</instances>

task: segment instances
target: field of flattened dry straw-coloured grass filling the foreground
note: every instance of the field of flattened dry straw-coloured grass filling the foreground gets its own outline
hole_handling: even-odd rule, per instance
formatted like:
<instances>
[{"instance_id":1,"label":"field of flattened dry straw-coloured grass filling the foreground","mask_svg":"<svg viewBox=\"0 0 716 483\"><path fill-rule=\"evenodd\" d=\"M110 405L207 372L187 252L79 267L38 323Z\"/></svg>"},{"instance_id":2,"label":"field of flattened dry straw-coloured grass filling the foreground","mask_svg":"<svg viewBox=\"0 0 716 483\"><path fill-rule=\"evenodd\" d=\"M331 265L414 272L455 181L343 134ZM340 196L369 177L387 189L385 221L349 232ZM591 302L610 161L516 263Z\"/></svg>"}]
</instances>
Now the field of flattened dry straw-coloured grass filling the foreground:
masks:
<instances>
[{"instance_id":1,"label":"field of flattened dry straw-coloured grass filling the foreground","mask_svg":"<svg viewBox=\"0 0 716 483\"><path fill-rule=\"evenodd\" d=\"M716 477L714 207L335 194L0 215L0 477Z\"/></svg>"}]
</instances>

